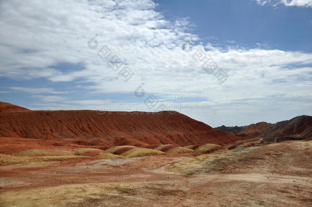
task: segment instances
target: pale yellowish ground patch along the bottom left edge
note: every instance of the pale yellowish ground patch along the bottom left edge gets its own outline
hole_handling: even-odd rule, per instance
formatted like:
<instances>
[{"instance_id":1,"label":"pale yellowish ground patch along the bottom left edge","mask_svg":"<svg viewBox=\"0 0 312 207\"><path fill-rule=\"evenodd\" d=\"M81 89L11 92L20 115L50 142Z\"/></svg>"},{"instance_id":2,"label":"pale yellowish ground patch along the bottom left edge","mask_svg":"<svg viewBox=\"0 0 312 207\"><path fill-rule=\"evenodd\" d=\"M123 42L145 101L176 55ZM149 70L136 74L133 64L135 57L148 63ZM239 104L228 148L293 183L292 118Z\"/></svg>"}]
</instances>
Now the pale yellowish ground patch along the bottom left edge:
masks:
<instances>
[{"instance_id":1,"label":"pale yellowish ground patch along the bottom left edge","mask_svg":"<svg viewBox=\"0 0 312 207\"><path fill-rule=\"evenodd\" d=\"M81 183L2 192L1 206L172 206L171 195L183 190L169 183L145 182ZM150 198L159 202L146 202Z\"/></svg>"}]
</instances>

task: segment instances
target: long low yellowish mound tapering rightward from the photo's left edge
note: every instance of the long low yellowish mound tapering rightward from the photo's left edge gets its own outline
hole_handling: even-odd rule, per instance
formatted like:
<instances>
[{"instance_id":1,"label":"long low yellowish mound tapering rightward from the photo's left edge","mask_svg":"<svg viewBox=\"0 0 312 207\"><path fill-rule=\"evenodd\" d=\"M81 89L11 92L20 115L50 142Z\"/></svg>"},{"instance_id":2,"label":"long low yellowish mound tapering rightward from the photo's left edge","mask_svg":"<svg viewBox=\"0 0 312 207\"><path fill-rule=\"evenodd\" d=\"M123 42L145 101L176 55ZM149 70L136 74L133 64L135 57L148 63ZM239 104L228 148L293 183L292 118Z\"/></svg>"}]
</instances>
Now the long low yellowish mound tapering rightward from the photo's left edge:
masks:
<instances>
[{"instance_id":1,"label":"long low yellowish mound tapering rightward from the photo's left edge","mask_svg":"<svg viewBox=\"0 0 312 207\"><path fill-rule=\"evenodd\" d=\"M91 157L75 156L75 155L28 157L28 156L12 156L12 155L7 155L7 154L0 154L0 165L65 161L65 160L77 159L77 158L88 159Z\"/></svg>"}]
</instances>

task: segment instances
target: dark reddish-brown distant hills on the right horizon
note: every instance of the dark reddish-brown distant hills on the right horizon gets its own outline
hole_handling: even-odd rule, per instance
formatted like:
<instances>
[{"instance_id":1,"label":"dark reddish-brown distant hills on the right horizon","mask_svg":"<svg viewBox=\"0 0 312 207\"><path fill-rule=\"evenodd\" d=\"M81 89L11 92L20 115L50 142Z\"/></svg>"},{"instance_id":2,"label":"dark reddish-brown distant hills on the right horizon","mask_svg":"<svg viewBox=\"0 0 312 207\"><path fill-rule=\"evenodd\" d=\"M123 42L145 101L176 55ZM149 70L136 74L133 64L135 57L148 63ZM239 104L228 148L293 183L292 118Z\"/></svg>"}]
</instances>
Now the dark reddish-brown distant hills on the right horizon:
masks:
<instances>
[{"instance_id":1,"label":"dark reddish-brown distant hills on the right horizon","mask_svg":"<svg viewBox=\"0 0 312 207\"><path fill-rule=\"evenodd\" d=\"M259 122L249 126L222 125L216 128L241 137L312 137L312 117L302 115L275 124Z\"/></svg>"}]
</instances>

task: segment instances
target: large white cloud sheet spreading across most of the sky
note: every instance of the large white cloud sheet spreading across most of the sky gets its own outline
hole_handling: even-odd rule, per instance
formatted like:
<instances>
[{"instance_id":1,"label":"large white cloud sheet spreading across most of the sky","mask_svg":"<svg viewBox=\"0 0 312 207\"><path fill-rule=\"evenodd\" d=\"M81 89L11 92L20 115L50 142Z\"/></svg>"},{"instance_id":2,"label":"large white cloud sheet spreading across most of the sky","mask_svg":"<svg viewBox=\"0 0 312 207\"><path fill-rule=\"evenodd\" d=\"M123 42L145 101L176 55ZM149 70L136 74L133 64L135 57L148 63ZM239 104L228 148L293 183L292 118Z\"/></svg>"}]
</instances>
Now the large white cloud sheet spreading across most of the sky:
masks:
<instances>
[{"instance_id":1,"label":"large white cloud sheet spreading across most of the sky","mask_svg":"<svg viewBox=\"0 0 312 207\"><path fill-rule=\"evenodd\" d=\"M260 1L260 5L275 1ZM304 3L305 2L305 3ZM310 6L311 1L282 1L285 6ZM303 4L304 3L304 4ZM222 113L229 110L257 110L260 103L273 103L275 96L291 107L298 102L311 106L312 54L257 49L216 48L196 45L187 53L184 41L196 42L194 25L187 18L169 21L149 0L140 1L4 1L0 4L0 77L14 79L46 78L58 82L83 81L84 89L95 93L133 93L144 83L145 97L156 94L166 100L183 92L192 99L209 100ZM95 34L98 47L88 48ZM233 40L231 40L233 41ZM124 82L107 60L97 52L104 46L117 55L135 75ZM222 85L207 74L192 55L206 54L228 75ZM52 67L59 63L82 63L82 70ZM53 88L12 87L27 93L58 94ZM75 88L79 91L79 88ZM299 98L298 98L299 97ZM58 96L36 96L47 102L62 102L60 108L94 109L98 100L84 104ZM238 100L239 98L239 100ZM246 100L242 102L241 100ZM263 102L255 101L264 100ZM71 102L72 101L72 102ZM240 102L238 106L236 103ZM70 104L69 104L70 103ZM278 105L278 104L276 104ZM51 104L51 107L55 107Z\"/></svg>"}]
</instances>

